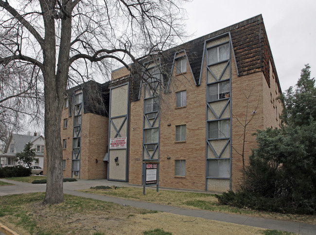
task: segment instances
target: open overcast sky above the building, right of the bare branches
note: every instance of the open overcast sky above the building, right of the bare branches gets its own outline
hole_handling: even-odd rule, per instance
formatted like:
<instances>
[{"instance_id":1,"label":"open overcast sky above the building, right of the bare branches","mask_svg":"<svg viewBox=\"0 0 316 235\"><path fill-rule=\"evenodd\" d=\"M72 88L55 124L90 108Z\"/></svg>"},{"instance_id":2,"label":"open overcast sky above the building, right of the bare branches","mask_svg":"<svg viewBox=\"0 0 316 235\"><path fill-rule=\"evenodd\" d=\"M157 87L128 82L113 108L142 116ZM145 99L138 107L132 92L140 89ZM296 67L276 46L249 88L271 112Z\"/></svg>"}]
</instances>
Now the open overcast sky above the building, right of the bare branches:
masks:
<instances>
[{"instance_id":1,"label":"open overcast sky above the building, right of the bare branches","mask_svg":"<svg viewBox=\"0 0 316 235\"><path fill-rule=\"evenodd\" d=\"M262 14L282 92L307 63L316 77L316 0L192 0L184 8L190 39Z\"/></svg>"}]
</instances>

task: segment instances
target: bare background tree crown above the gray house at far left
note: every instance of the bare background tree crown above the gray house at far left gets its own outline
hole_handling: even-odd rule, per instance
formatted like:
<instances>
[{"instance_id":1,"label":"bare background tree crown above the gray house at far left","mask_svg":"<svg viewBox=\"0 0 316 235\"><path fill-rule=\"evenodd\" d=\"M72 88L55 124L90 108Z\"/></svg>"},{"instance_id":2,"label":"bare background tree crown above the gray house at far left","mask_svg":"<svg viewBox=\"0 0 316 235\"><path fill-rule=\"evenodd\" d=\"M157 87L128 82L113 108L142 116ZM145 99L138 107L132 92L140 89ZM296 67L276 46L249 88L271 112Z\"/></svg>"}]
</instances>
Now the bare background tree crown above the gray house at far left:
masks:
<instances>
[{"instance_id":1,"label":"bare background tree crown above the gray house at far left","mask_svg":"<svg viewBox=\"0 0 316 235\"><path fill-rule=\"evenodd\" d=\"M3 46L1 42L0 45ZM26 119L38 123L43 117L40 77L34 65L19 62L0 65L0 147L7 144L12 132L24 130Z\"/></svg>"}]
</instances>

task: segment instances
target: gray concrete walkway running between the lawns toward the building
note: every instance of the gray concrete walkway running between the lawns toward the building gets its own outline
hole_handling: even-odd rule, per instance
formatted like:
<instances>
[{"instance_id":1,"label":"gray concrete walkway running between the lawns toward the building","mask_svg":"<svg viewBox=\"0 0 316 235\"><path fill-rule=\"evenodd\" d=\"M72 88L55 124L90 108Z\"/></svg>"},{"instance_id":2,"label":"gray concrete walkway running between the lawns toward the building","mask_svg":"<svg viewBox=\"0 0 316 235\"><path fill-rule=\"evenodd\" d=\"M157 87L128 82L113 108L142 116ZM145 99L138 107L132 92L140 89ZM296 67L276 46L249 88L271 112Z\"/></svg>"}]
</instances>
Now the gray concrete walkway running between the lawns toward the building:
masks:
<instances>
[{"instance_id":1,"label":"gray concrete walkway running between the lawns toward the building","mask_svg":"<svg viewBox=\"0 0 316 235\"><path fill-rule=\"evenodd\" d=\"M31 184L31 183L22 183L17 181L8 181L1 180L5 182L14 183L12 186L1 186L0 187L0 196L4 195L13 195L13 194L24 194L24 193L33 193L33 192L45 192L46 184ZM90 199L97 199L102 201L114 202L118 204L125 204L129 206L139 207L148 210L156 210L161 212L168 212L176 215L191 216L191 217L200 217L212 220L218 220L223 222L248 225L253 227L260 227L265 229L275 229L288 231L296 234L304 235L316 235L316 225L301 223L301 222L292 222L292 221L283 221L277 219L267 219L261 217L249 217L244 215L235 215L235 214L226 214L219 212L211 212L206 210L192 210L185 209L175 206L160 205L155 203L135 201L128 199L120 199L114 197L108 197L103 195L94 195L84 192L79 192L75 190L79 189L88 189L93 186L98 185L107 185L107 186L118 186L118 187L132 187L125 182L116 182L116 181L107 181L107 180L79 180L76 182L65 182L64 183L64 193L79 196ZM134 186L135 187L135 186ZM140 187L140 186L136 186ZM163 190L163 189L160 189Z\"/></svg>"}]
</instances>

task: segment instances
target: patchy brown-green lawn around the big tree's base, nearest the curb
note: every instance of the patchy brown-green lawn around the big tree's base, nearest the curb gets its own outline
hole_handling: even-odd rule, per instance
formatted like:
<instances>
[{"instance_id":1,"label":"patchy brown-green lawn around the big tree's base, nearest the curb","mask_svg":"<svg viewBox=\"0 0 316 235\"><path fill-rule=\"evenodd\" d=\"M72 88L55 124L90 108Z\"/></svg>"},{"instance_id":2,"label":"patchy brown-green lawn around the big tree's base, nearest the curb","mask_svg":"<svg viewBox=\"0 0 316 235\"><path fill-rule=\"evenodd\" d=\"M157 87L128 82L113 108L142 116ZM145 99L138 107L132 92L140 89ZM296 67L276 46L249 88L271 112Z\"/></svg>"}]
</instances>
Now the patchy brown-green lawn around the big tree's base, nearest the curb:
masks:
<instances>
[{"instance_id":1,"label":"patchy brown-green lawn around the big tree's base, nearest the curb","mask_svg":"<svg viewBox=\"0 0 316 235\"><path fill-rule=\"evenodd\" d=\"M160 213L70 195L64 195L64 202L57 205L45 205L43 199L44 193L0 197L0 222L18 234L36 235L141 235L154 234L155 231L162 235L269 235L269 230L262 228Z\"/></svg>"}]
</instances>

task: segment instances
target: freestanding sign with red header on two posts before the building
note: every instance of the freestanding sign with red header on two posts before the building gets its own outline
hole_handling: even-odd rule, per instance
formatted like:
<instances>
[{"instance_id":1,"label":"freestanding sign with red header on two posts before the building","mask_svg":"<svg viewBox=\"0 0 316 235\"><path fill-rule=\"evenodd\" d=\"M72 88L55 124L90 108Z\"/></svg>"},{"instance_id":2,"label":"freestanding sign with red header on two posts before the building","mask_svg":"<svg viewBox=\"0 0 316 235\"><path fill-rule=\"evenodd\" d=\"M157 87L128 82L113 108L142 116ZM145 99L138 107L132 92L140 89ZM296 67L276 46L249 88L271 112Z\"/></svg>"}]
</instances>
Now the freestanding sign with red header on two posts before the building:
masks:
<instances>
[{"instance_id":1,"label":"freestanding sign with red header on two posts before the building","mask_svg":"<svg viewBox=\"0 0 316 235\"><path fill-rule=\"evenodd\" d=\"M159 163L158 162L143 162L144 171L143 172L143 186L142 194L145 195L145 187L147 185L157 186L157 192L159 190Z\"/></svg>"}]
</instances>

